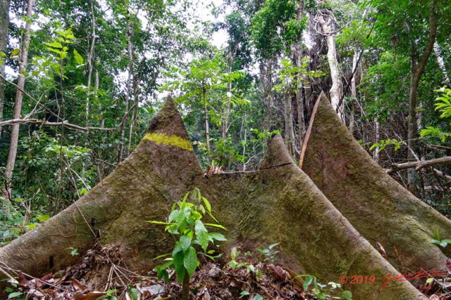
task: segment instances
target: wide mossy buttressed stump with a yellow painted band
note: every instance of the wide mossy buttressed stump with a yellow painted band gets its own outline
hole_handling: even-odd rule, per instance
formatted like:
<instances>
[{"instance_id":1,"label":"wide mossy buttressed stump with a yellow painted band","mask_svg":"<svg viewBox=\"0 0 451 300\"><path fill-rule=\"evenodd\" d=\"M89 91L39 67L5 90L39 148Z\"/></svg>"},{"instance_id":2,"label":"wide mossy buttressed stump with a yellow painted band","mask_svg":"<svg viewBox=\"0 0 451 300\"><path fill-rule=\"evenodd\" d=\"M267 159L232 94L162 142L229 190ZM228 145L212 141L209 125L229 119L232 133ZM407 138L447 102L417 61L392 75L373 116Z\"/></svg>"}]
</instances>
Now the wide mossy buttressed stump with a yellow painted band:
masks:
<instances>
[{"instance_id":1,"label":"wide mossy buttressed stump with a yellow painted band","mask_svg":"<svg viewBox=\"0 0 451 300\"><path fill-rule=\"evenodd\" d=\"M68 247L83 252L99 240L121 248L132 269L154 264L171 251L161 226L171 204L194 187L202 191L229 241L243 248L280 242L280 263L320 282L341 275L374 275L373 285L348 285L354 299L426 299L399 275L292 161L276 136L257 171L205 175L192 151L172 100L152 120L136 150L113 173L68 209L0 249L0 262L31 275L60 270L74 262ZM0 273L0 276L4 276Z\"/></svg>"}]
</instances>

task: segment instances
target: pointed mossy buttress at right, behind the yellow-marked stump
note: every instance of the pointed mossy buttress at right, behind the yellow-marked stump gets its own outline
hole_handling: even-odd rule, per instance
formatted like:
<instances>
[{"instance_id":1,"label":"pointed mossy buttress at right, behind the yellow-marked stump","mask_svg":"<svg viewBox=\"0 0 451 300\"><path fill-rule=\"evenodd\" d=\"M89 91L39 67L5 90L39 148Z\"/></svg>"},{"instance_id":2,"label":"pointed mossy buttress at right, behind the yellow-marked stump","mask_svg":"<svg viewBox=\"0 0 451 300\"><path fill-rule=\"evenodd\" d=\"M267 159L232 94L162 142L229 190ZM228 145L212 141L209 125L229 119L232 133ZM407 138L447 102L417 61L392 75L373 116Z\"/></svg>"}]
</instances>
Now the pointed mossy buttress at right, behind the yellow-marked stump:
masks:
<instances>
[{"instance_id":1,"label":"pointed mossy buttress at right, behind the yellow-marked stump","mask_svg":"<svg viewBox=\"0 0 451 300\"><path fill-rule=\"evenodd\" d=\"M321 93L302 169L328 200L402 273L446 270L433 232L451 237L451 221L414 197L378 166ZM448 250L448 249L447 249Z\"/></svg>"}]
</instances>

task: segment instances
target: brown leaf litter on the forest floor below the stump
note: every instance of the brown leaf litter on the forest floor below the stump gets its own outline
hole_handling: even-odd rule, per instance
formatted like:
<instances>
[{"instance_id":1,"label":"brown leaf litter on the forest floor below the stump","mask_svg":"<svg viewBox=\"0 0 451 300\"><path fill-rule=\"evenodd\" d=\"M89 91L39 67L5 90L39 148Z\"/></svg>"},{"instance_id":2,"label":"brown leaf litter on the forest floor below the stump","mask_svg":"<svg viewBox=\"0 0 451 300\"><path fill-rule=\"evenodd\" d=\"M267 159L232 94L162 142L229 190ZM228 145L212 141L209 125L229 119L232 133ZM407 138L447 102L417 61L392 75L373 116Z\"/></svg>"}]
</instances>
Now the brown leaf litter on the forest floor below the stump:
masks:
<instances>
[{"instance_id":1,"label":"brown leaf litter on the forest floor below the stump","mask_svg":"<svg viewBox=\"0 0 451 300\"><path fill-rule=\"evenodd\" d=\"M292 270L264 260L246 253L240 255L239 261L235 257L227 263L202 263L191 278L190 300L352 299L350 292L335 282L321 285L313 277L297 277ZM442 287L440 282L437 278L416 287L428 299L451 299L447 291L451 283ZM12 300L169 300L180 299L182 292L175 273L170 273L165 282L158 280L152 270L132 272L121 266L117 248L101 247L89 249L77 264L42 278L19 273L13 286L8 288L8 299Z\"/></svg>"}]
</instances>

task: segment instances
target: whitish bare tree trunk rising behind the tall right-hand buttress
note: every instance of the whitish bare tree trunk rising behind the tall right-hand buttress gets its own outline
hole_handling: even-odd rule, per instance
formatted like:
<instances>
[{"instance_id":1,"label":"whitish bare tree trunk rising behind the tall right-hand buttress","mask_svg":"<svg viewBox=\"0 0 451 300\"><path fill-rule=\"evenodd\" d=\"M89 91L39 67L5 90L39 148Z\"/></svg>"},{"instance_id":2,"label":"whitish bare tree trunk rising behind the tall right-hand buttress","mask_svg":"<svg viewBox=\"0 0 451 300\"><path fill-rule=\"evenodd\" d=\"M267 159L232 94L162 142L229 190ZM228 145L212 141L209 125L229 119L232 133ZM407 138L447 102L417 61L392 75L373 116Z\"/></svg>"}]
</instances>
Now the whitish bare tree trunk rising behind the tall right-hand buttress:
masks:
<instances>
[{"instance_id":1,"label":"whitish bare tree trunk rising behind the tall right-hand buttress","mask_svg":"<svg viewBox=\"0 0 451 300\"><path fill-rule=\"evenodd\" d=\"M330 29L332 18L328 16L327 20L324 20L323 16L320 16L319 22L321 24L323 34L326 35L326 42L328 47L327 60L330 67L330 77L332 79L332 87L329 91L330 103L332 103L332 107L335 108L342 122L345 122L343 103L341 103L340 107L338 107L342 93L342 80L340 77L340 65L338 65L337 53L335 51L335 39L333 37L332 30Z\"/></svg>"}]
</instances>

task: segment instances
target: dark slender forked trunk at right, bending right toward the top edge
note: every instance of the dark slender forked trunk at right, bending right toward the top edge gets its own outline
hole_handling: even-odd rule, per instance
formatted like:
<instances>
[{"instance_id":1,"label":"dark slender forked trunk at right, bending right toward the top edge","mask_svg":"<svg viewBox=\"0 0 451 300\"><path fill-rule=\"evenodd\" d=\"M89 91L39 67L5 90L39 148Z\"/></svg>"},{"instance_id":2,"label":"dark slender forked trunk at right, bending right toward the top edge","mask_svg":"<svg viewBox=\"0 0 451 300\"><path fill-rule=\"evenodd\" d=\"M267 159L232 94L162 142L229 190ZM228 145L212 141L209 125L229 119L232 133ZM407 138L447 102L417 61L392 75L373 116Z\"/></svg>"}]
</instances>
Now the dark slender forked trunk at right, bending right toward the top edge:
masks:
<instances>
[{"instance_id":1,"label":"dark slender forked trunk at right, bending right toward the top edge","mask_svg":"<svg viewBox=\"0 0 451 300\"><path fill-rule=\"evenodd\" d=\"M416 133L418 131L418 119L417 119L417 96L418 96L418 86L421 79L421 75L424 72L426 67L426 63L428 62L429 57L433 51L433 45L435 43L435 37L437 35L437 27L438 23L435 19L435 1L431 2L431 15L429 16L429 37L424 48L423 54L419 59L418 65L416 65L416 48L412 44L411 51L411 77L410 77L410 90L409 90L409 119L408 119L408 136L407 136L407 145L414 152L416 149ZM408 159L414 159L413 154L409 151ZM409 185L410 190L414 191L415 185L415 170L409 169L407 176L407 183Z\"/></svg>"}]
</instances>

